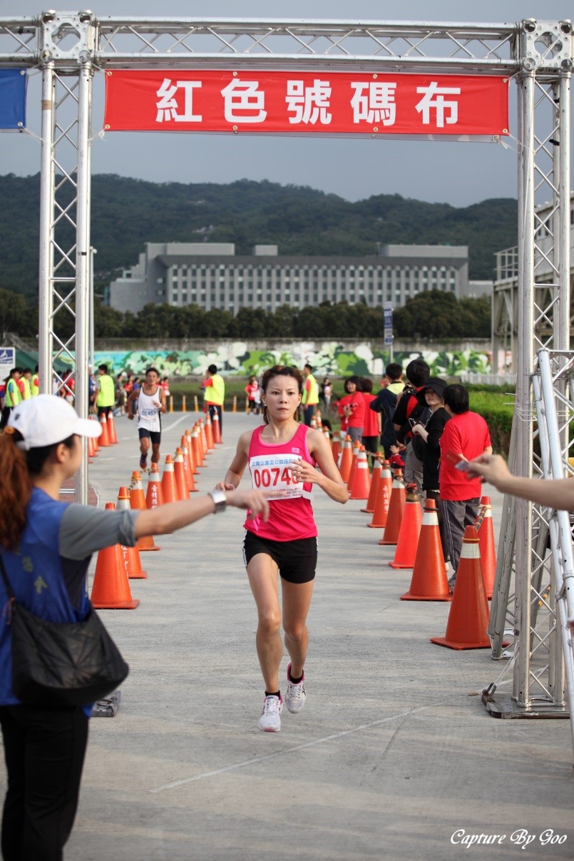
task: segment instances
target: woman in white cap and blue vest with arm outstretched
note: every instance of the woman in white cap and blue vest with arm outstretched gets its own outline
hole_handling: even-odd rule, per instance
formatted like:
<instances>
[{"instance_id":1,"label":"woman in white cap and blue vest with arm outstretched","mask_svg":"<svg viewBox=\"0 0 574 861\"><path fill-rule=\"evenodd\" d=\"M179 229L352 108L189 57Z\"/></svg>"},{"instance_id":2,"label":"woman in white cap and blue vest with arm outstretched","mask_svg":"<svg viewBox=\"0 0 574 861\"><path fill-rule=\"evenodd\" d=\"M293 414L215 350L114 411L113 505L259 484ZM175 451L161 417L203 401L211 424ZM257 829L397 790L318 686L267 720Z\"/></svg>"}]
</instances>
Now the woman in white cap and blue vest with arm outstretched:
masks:
<instances>
[{"instance_id":1,"label":"woman in white cap and blue vest with arm outstretched","mask_svg":"<svg viewBox=\"0 0 574 861\"><path fill-rule=\"evenodd\" d=\"M56 623L89 612L85 577L92 553L139 536L161 535L225 508L268 517L266 494L217 490L150 511L102 511L59 502L77 472L80 437L100 424L78 418L62 398L40 394L15 406L0 435L0 553L19 603ZM0 579L0 606L8 595ZM44 708L12 691L11 633L0 616L0 725L8 770L2 824L3 858L62 858L76 815L91 707Z\"/></svg>"}]
</instances>

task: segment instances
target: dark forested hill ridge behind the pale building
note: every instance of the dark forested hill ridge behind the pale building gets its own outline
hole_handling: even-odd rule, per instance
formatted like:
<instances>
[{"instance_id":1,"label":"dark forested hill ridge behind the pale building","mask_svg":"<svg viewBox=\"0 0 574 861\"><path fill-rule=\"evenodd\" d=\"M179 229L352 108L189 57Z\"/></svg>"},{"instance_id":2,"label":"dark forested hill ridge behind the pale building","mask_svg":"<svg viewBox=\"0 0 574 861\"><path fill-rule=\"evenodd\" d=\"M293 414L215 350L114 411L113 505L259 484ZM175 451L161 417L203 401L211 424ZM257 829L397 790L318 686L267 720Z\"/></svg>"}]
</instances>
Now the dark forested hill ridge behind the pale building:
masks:
<instances>
[{"instance_id":1,"label":"dark forested hill ridge behind the pale building","mask_svg":"<svg viewBox=\"0 0 574 861\"><path fill-rule=\"evenodd\" d=\"M0 177L0 200L0 288L34 293L40 175ZM466 208L401 195L351 203L267 181L184 185L96 174L91 201L100 284L136 263L145 242L234 242L238 254L273 244L281 254L311 255L370 255L387 243L468 245L473 279L491 279L495 251L516 244L517 203L511 199Z\"/></svg>"}]
</instances>

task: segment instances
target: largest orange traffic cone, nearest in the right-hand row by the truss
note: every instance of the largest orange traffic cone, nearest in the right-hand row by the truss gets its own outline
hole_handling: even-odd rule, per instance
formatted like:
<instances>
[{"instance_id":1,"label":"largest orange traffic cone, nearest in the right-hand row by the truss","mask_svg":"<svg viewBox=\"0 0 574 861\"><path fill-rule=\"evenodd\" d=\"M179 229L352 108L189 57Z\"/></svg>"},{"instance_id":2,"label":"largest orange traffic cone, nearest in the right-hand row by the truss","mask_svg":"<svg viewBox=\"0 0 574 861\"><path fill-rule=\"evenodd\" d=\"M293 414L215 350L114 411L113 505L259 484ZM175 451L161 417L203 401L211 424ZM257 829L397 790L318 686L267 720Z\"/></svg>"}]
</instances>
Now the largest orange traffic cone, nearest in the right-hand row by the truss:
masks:
<instances>
[{"instance_id":1,"label":"largest orange traffic cone, nearest in the right-hand row by the truss","mask_svg":"<svg viewBox=\"0 0 574 861\"><path fill-rule=\"evenodd\" d=\"M478 535L475 526L467 526L456 573L453 603L448 614L447 632L431 637L431 643L454 649L489 648L488 601L485 579L480 565Z\"/></svg>"}]
</instances>

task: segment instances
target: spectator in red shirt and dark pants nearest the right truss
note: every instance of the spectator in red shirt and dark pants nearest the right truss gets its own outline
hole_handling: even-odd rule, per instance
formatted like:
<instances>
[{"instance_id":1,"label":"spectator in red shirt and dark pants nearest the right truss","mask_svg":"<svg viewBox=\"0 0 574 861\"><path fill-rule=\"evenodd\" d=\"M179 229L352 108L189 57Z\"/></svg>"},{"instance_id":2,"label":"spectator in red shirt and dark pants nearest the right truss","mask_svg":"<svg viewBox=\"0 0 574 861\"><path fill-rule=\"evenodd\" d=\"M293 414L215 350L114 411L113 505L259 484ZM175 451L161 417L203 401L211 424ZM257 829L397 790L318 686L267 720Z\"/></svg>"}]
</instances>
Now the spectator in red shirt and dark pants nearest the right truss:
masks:
<instances>
[{"instance_id":1,"label":"spectator in red shirt and dark pants nearest the right truss","mask_svg":"<svg viewBox=\"0 0 574 861\"><path fill-rule=\"evenodd\" d=\"M492 453L488 425L478 412L469 409L468 392L458 383L447 386L442 395L444 407L451 416L441 436L439 489L444 533L453 574L448 580L454 590L460 550L466 526L473 526L478 515L482 483L478 476L469 477L466 461Z\"/></svg>"}]
</instances>

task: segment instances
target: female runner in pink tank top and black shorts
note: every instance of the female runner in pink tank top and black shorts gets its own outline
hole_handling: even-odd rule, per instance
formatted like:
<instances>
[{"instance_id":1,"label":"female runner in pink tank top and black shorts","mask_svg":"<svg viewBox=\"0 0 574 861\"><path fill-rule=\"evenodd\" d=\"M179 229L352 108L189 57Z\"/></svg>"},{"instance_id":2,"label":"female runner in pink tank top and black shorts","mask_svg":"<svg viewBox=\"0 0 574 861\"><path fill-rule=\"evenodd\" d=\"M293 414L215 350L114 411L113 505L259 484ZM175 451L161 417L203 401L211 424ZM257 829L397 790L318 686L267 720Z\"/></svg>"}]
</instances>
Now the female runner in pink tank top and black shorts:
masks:
<instances>
[{"instance_id":1,"label":"female runner in pink tank top and black shorts","mask_svg":"<svg viewBox=\"0 0 574 861\"><path fill-rule=\"evenodd\" d=\"M249 465L254 487L285 491L281 499L269 500L267 522L256 517L244 523L244 562L257 606L256 647L265 682L258 727L263 732L278 733L283 708L279 690L283 646L277 573L281 575L285 645L291 658L285 701L287 709L296 714L306 700L306 618L317 567L312 486L318 485L341 503L347 502L349 493L324 435L297 421L303 391L300 371L275 365L263 374L261 386L265 424L239 437L236 455L218 488L234 490Z\"/></svg>"}]
</instances>

